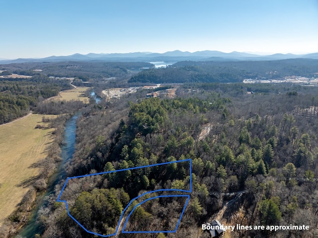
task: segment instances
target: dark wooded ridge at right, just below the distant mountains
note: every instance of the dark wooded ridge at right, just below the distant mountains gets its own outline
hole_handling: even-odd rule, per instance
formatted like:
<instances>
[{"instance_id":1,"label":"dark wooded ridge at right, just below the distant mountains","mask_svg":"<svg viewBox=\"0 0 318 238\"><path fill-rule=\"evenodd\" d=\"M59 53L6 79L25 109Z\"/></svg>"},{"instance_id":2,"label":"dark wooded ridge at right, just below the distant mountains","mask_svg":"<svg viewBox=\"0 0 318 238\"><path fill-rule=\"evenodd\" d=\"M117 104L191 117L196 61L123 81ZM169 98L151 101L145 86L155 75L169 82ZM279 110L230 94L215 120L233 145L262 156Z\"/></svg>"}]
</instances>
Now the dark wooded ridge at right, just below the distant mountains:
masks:
<instances>
[{"instance_id":1,"label":"dark wooded ridge at right, just below the distant mountains","mask_svg":"<svg viewBox=\"0 0 318 238\"><path fill-rule=\"evenodd\" d=\"M318 60L194 62L183 61L167 68L150 69L132 76L128 82L185 83L241 82L243 79L277 79L285 76L314 77Z\"/></svg>"}]
</instances>

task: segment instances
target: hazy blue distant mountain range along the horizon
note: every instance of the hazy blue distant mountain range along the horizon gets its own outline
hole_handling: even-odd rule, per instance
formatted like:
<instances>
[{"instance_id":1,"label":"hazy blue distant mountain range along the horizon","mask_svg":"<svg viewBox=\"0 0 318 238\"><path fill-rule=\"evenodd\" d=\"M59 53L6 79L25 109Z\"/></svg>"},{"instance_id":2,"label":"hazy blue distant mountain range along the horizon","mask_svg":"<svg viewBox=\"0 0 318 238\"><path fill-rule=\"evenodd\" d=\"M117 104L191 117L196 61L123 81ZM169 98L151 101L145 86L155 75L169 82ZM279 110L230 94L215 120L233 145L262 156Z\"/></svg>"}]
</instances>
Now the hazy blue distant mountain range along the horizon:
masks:
<instances>
[{"instance_id":1,"label":"hazy blue distant mountain range along the horizon","mask_svg":"<svg viewBox=\"0 0 318 238\"><path fill-rule=\"evenodd\" d=\"M134 53L112 53L87 55L74 54L69 56L50 56L42 59L16 59L0 60L0 64L23 63L23 62L57 62L57 61L118 61L118 62L177 62L177 61L261 61L261 60L285 60L285 59L318 59L318 53L306 55L274 54L255 55L243 52L224 53L221 51L197 51L190 53L179 50L165 53L134 52Z\"/></svg>"}]
</instances>

